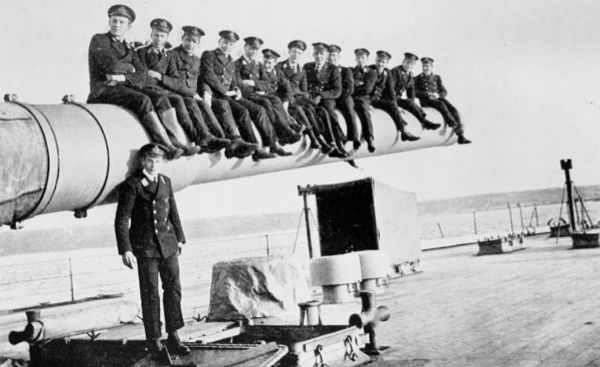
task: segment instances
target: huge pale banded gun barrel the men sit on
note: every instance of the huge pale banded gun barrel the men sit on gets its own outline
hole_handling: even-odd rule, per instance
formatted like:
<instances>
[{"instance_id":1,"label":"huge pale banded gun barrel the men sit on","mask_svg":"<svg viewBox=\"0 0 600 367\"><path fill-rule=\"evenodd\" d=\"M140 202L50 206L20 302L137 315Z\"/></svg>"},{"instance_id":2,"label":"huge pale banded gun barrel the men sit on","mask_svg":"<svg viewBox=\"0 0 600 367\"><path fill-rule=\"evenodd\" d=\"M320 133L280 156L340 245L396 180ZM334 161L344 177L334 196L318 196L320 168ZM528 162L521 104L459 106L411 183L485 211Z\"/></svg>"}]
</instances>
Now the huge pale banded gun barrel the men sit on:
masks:
<instances>
[{"instance_id":1,"label":"huge pale banded gun barrel the men sit on","mask_svg":"<svg viewBox=\"0 0 600 367\"><path fill-rule=\"evenodd\" d=\"M418 133L421 139L416 142L401 141L389 115L377 109L371 114L377 151L368 153L361 147L351 159L456 142L447 127ZM427 114L430 120L443 122L435 110L427 109ZM412 115L404 117L410 130L420 131ZM137 118L117 106L0 103L0 224L15 226L38 214L64 210L85 216L93 206L116 201L115 189L135 168L138 148L149 141ZM204 182L339 161L310 149L305 139L290 149L291 156L258 162L226 159L222 153L182 157L169 161L164 173L177 191Z\"/></svg>"}]
</instances>

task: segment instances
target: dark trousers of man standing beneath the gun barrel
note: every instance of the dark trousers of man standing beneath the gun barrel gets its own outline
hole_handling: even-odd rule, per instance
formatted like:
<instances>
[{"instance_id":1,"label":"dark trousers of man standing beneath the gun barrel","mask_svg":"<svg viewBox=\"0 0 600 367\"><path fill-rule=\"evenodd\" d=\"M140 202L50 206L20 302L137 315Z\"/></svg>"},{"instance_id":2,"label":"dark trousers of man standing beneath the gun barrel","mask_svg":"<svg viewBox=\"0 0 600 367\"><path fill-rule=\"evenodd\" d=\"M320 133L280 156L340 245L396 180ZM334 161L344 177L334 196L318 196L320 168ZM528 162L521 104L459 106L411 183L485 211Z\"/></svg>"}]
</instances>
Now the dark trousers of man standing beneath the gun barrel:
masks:
<instances>
[{"instance_id":1,"label":"dark trousers of man standing beneath the gun barrel","mask_svg":"<svg viewBox=\"0 0 600 367\"><path fill-rule=\"evenodd\" d=\"M158 275L163 288L165 329L174 332L184 326L181 312L181 282L179 280L179 260L175 254L168 258L138 257L138 276L142 299L142 317L146 339L160 338L160 296Z\"/></svg>"}]
</instances>

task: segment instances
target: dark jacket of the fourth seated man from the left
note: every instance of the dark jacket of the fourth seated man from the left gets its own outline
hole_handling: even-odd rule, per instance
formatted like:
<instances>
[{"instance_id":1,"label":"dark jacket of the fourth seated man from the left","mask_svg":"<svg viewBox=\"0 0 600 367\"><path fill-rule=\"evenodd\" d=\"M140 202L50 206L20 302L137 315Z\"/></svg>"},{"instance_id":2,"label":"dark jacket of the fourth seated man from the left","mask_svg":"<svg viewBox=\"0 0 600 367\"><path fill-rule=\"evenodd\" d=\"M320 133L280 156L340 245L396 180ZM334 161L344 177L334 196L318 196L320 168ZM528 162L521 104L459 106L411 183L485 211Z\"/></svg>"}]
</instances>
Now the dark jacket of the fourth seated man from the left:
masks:
<instances>
[{"instance_id":1,"label":"dark jacket of the fourth seated man from the left","mask_svg":"<svg viewBox=\"0 0 600 367\"><path fill-rule=\"evenodd\" d=\"M238 88L235 63L230 55L220 49L204 51L200 58L200 80L212 90L216 97Z\"/></svg>"}]
</instances>

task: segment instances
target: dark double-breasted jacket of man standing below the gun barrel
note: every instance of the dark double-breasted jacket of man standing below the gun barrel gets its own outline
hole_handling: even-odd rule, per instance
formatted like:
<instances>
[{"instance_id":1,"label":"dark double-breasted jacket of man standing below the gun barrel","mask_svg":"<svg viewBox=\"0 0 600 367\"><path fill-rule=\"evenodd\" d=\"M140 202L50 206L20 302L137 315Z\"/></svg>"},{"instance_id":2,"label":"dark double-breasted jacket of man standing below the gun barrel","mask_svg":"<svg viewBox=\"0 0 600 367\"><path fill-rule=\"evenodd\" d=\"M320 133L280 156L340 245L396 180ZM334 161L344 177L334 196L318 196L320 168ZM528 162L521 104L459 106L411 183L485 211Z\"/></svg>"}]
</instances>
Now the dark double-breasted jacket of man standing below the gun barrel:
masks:
<instances>
[{"instance_id":1,"label":"dark double-breasted jacket of man standing below the gun barrel","mask_svg":"<svg viewBox=\"0 0 600 367\"><path fill-rule=\"evenodd\" d=\"M121 184L115 217L121 255L132 251L136 257L169 258L178 252L177 243L185 242L171 180L161 174L156 178L151 182L138 171Z\"/></svg>"}]
</instances>

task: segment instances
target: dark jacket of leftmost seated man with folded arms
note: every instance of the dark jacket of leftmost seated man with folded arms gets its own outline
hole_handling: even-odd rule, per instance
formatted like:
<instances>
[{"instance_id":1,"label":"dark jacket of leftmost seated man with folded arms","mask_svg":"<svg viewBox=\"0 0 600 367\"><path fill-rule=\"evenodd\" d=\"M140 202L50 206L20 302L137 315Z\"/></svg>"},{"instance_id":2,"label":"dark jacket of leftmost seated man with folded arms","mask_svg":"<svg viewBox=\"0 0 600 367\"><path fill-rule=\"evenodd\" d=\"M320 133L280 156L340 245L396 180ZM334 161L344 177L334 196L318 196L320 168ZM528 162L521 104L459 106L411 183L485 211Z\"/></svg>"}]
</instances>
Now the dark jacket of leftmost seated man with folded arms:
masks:
<instances>
[{"instance_id":1,"label":"dark jacket of leftmost seated man with folded arms","mask_svg":"<svg viewBox=\"0 0 600 367\"><path fill-rule=\"evenodd\" d=\"M118 41L110 32L92 37L88 64L90 96L100 94L107 87L107 74L124 75L124 84L135 89L143 88L148 83L146 68L133 47L124 40Z\"/></svg>"}]
</instances>

